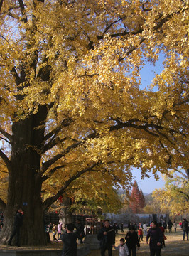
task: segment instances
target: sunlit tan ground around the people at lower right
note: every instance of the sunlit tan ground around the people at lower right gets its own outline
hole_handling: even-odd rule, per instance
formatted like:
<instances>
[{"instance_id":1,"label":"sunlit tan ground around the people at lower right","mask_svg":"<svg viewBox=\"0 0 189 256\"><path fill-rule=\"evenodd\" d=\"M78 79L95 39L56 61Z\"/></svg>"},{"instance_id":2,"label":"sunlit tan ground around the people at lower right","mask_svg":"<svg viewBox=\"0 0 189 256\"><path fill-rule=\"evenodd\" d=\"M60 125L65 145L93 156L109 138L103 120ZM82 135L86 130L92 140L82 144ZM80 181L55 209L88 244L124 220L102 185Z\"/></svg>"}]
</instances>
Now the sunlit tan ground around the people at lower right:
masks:
<instances>
[{"instance_id":1,"label":"sunlit tan ground around the people at lower right","mask_svg":"<svg viewBox=\"0 0 189 256\"><path fill-rule=\"evenodd\" d=\"M119 245L119 239L124 238L126 233L120 233L116 237L116 245ZM189 256L189 241L183 241L183 232L178 230L176 233L166 233L166 247L161 250L161 256ZM91 251L88 256L99 256L99 250ZM140 250L136 252L139 256L148 256L149 245L146 245L146 238L141 242ZM112 256L119 256L117 250L113 250Z\"/></svg>"}]
</instances>

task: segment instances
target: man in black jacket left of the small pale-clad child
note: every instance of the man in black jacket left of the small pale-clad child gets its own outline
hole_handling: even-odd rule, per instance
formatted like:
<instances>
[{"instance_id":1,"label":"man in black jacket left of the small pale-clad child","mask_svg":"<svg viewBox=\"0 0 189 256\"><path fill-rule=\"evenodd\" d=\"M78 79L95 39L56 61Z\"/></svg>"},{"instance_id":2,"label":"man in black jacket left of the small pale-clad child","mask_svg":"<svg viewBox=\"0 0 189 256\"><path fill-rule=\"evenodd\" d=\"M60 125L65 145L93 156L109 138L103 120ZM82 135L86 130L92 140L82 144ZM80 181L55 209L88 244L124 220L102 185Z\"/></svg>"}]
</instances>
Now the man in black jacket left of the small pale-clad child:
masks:
<instances>
[{"instance_id":1,"label":"man in black jacket left of the small pale-clad child","mask_svg":"<svg viewBox=\"0 0 189 256\"><path fill-rule=\"evenodd\" d=\"M114 228L110 226L109 220L104 221L104 228L99 230L97 239L100 241L101 256L105 256L105 251L108 250L108 256L112 256L112 245L115 244Z\"/></svg>"}]
</instances>

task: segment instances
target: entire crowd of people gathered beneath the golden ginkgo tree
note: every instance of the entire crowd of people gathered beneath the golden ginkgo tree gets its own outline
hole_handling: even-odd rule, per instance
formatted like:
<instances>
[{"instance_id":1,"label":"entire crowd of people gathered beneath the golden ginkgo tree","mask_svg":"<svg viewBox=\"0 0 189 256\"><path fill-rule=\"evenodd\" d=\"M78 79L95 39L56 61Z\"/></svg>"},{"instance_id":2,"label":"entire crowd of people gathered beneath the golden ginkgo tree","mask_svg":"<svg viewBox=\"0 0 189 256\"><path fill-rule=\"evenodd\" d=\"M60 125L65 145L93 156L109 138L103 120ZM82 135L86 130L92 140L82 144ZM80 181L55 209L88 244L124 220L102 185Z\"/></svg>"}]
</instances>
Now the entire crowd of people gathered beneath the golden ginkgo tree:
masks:
<instances>
[{"instance_id":1,"label":"entire crowd of people gathered beneath the golden ginkgo tree","mask_svg":"<svg viewBox=\"0 0 189 256\"><path fill-rule=\"evenodd\" d=\"M14 236L16 236L16 245L19 246L19 234L20 228L23 221L23 210L20 208L16 210L14 216L13 230L9 238L8 245L11 245L11 241ZM1 228L4 223L4 214L0 215L0 224ZM179 223L180 228L183 229L183 240L188 240L188 220L185 218L181 223ZM83 238L85 238L85 227L81 222L80 218L77 218L75 224L69 223L63 228L63 223L48 224L46 225L46 233L53 233L53 241L62 240L63 241L63 256L76 256L77 255L77 240L78 243L83 243ZM120 239L119 245L115 245L115 237L118 233L117 223L110 224L109 220L104 220L103 227L99 230L97 234L97 239L99 240L101 256L105 255L105 252L108 251L108 256L112 256L112 248L119 250L119 256L136 256L136 249L139 250L140 242L143 241L144 236L146 238L146 243L149 241L150 255L151 256L161 256L162 247L166 247L165 233L172 232L174 228L175 232L177 229L177 224L175 220L173 223L171 220L166 223L163 220L163 223L157 223L153 220L150 224L150 228L147 228L146 223L129 223L128 232L124 238ZM120 225L121 233L124 233L124 223ZM74 230L76 230L74 232Z\"/></svg>"}]
</instances>

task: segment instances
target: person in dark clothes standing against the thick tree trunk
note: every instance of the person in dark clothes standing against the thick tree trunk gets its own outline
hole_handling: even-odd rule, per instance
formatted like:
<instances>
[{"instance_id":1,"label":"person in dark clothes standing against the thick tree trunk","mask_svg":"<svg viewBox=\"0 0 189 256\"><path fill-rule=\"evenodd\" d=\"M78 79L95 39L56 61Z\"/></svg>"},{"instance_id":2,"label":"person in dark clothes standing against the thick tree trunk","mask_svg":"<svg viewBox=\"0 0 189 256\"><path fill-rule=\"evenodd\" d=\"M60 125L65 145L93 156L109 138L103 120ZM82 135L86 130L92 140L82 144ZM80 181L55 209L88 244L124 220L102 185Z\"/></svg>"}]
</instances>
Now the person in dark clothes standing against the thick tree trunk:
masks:
<instances>
[{"instance_id":1,"label":"person in dark clothes standing against the thick tree trunk","mask_svg":"<svg viewBox=\"0 0 189 256\"><path fill-rule=\"evenodd\" d=\"M14 215L14 222L13 222L13 231L11 233L11 238L9 239L8 245L11 245L11 241L13 237L16 235L16 246L20 246L20 228L23 223L23 210L19 208L16 210L16 214Z\"/></svg>"}]
</instances>

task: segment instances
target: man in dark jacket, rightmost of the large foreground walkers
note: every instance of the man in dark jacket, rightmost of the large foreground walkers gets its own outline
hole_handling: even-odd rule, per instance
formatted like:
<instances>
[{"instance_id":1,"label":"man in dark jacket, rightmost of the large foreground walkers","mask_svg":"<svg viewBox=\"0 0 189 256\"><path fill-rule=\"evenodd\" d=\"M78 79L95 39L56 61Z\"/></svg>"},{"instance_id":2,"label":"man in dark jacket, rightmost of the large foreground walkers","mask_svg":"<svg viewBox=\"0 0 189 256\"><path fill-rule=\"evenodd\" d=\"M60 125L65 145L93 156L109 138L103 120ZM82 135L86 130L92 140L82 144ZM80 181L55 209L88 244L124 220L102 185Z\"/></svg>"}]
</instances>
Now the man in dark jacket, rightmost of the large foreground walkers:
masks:
<instances>
[{"instance_id":1,"label":"man in dark jacket, rightmost of the large foreground walkers","mask_svg":"<svg viewBox=\"0 0 189 256\"><path fill-rule=\"evenodd\" d=\"M163 242L163 233L161 229L158 228L158 223L156 221L151 222L151 228L148 230L146 236L146 243L150 238L150 256L161 256L161 248Z\"/></svg>"}]
</instances>

